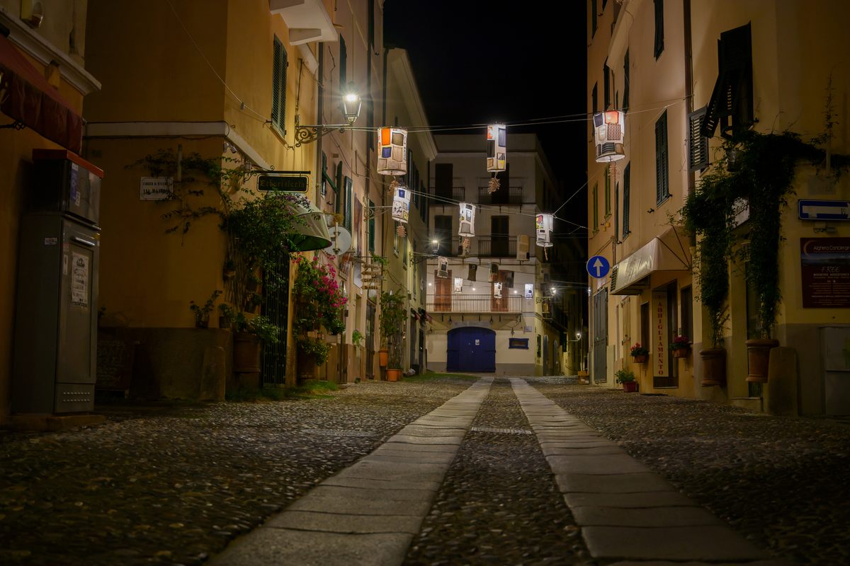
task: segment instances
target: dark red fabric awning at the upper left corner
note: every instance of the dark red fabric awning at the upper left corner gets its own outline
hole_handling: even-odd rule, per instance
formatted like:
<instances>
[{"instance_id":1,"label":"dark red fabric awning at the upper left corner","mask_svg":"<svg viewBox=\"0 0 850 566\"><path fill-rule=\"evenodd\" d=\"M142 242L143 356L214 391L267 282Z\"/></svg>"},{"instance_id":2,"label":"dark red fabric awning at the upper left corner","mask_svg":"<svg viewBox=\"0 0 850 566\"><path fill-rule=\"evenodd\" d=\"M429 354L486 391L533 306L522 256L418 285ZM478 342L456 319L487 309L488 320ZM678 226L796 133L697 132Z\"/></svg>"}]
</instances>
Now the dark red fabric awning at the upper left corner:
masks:
<instances>
[{"instance_id":1,"label":"dark red fabric awning at the upper left corner","mask_svg":"<svg viewBox=\"0 0 850 566\"><path fill-rule=\"evenodd\" d=\"M4 36L0 36L0 112L63 148L76 154L82 150L82 116Z\"/></svg>"}]
</instances>

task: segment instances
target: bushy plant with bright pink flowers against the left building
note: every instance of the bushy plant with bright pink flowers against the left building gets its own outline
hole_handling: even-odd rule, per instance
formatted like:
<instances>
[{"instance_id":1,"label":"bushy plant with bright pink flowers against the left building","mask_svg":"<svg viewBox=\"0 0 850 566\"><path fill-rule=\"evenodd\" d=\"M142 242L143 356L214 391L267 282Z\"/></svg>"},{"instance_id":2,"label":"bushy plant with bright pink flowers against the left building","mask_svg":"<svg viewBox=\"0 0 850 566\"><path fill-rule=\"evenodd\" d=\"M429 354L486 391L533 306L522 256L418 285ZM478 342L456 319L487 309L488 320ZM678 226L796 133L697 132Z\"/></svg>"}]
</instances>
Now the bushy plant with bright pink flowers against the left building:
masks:
<instances>
[{"instance_id":1,"label":"bushy plant with bright pink flowers against the left building","mask_svg":"<svg viewBox=\"0 0 850 566\"><path fill-rule=\"evenodd\" d=\"M318 256L313 260L301 256L296 266L297 275L292 283L296 300L292 326L298 348L315 356L316 363L321 365L327 360L329 347L324 339L311 333L317 334L320 328L331 334L343 332L343 309L348 299L337 282L337 270L320 263Z\"/></svg>"}]
</instances>

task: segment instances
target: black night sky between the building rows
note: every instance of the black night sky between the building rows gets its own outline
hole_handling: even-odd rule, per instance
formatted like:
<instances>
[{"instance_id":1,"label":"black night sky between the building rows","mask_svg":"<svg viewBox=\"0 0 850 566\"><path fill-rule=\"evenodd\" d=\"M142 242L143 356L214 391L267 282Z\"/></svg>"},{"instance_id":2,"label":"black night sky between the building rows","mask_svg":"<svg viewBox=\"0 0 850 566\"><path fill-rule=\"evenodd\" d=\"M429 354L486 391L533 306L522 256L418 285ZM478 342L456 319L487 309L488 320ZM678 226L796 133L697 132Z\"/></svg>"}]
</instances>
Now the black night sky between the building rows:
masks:
<instances>
[{"instance_id":1,"label":"black night sky between the building rows","mask_svg":"<svg viewBox=\"0 0 850 566\"><path fill-rule=\"evenodd\" d=\"M586 179L586 123L511 124L587 112L585 10L578 0L386 0L384 42L408 51L431 126L501 120L536 132L569 197ZM585 219L586 204L580 193L559 216Z\"/></svg>"}]
</instances>

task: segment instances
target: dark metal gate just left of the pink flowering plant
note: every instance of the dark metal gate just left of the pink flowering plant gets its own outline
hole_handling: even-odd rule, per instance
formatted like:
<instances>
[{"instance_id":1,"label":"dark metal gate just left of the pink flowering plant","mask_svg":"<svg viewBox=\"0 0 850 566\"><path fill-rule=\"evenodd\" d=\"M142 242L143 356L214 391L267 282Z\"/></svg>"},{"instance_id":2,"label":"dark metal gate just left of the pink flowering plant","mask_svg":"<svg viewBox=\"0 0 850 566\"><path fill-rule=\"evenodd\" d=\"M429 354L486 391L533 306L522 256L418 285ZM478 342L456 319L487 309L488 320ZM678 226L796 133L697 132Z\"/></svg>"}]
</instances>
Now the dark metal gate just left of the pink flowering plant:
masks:
<instances>
[{"instance_id":1,"label":"dark metal gate just left of the pink flowering plant","mask_svg":"<svg viewBox=\"0 0 850 566\"><path fill-rule=\"evenodd\" d=\"M280 342L263 344L263 387L286 385L286 325L289 319L289 255L280 252L275 266L277 277L263 277L263 315L279 328Z\"/></svg>"}]
</instances>

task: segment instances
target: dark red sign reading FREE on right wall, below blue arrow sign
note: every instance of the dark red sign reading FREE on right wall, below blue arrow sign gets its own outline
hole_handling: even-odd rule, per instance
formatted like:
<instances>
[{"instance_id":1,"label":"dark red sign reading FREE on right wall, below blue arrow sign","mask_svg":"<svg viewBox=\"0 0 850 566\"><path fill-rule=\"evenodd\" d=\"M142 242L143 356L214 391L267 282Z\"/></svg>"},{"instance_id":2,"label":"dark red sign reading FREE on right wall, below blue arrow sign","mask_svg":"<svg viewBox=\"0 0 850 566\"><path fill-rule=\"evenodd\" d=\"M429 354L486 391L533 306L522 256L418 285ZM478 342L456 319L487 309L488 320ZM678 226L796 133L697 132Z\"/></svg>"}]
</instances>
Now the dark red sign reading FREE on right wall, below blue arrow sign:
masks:
<instances>
[{"instance_id":1,"label":"dark red sign reading FREE on right wall, below blue arrow sign","mask_svg":"<svg viewBox=\"0 0 850 566\"><path fill-rule=\"evenodd\" d=\"M850 238L800 238L802 306L850 308Z\"/></svg>"}]
</instances>

